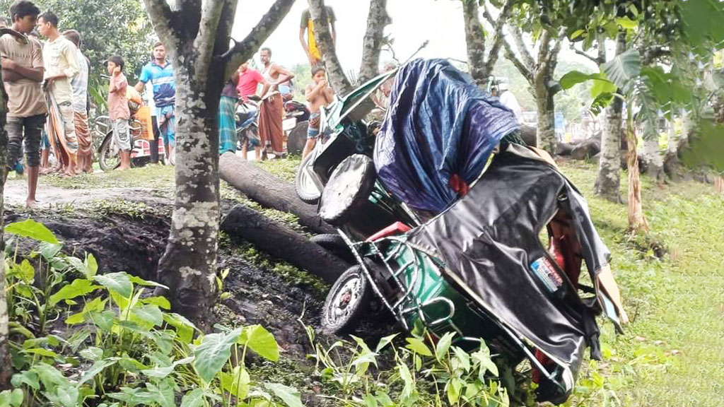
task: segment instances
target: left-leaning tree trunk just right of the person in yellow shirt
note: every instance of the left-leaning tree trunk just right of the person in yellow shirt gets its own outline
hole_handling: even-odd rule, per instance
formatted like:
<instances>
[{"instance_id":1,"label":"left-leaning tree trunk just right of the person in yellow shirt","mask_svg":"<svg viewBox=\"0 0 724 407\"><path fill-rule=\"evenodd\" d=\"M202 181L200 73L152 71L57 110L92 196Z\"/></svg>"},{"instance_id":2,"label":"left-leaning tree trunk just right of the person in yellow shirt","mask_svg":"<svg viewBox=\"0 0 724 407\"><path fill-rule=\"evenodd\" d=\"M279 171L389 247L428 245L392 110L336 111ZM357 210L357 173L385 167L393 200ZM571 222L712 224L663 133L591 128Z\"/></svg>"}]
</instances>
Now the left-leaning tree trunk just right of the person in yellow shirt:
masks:
<instances>
[{"instance_id":1,"label":"left-leaning tree trunk just right of the person in yellow shirt","mask_svg":"<svg viewBox=\"0 0 724 407\"><path fill-rule=\"evenodd\" d=\"M345 75L345 70L342 69L340 59L337 58L337 51L334 50L334 41L332 41L332 34L329 32L324 0L309 0L309 13L314 21L314 38L317 46L319 46L329 83L338 96L345 96L353 88L347 75Z\"/></svg>"}]
</instances>

